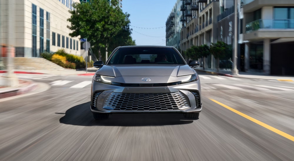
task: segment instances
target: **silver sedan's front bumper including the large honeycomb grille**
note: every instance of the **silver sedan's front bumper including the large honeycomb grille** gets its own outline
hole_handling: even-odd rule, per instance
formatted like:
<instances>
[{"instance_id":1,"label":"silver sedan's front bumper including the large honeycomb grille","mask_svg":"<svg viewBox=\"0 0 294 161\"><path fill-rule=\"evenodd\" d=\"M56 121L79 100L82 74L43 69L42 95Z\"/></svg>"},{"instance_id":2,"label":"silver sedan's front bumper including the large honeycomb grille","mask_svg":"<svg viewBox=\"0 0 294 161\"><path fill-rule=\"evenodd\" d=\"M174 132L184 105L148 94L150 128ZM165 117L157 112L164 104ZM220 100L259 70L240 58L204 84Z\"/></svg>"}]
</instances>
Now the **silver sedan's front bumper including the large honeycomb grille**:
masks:
<instances>
[{"instance_id":1,"label":"silver sedan's front bumper including the large honeycomb grille","mask_svg":"<svg viewBox=\"0 0 294 161\"><path fill-rule=\"evenodd\" d=\"M122 87L93 80L93 113L201 112L200 80L168 87Z\"/></svg>"}]
</instances>

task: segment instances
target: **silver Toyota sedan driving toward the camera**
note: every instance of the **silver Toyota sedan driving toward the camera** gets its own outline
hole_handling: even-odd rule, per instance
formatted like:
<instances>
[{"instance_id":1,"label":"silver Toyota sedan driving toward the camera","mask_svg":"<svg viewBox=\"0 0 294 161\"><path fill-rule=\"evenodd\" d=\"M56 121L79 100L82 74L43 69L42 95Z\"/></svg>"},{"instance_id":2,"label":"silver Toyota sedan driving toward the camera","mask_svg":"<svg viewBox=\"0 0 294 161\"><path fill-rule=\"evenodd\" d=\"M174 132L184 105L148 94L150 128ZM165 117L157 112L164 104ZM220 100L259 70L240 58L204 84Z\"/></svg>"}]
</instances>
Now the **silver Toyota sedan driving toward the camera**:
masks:
<instances>
[{"instance_id":1,"label":"silver Toyota sedan driving toward the camera","mask_svg":"<svg viewBox=\"0 0 294 161\"><path fill-rule=\"evenodd\" d=\"M97 120L112 113L176 112L197 119L202 109L199 76L174 47L124 46L113 50L92 80L91 112Z\"/></svg>"}]
</instances>

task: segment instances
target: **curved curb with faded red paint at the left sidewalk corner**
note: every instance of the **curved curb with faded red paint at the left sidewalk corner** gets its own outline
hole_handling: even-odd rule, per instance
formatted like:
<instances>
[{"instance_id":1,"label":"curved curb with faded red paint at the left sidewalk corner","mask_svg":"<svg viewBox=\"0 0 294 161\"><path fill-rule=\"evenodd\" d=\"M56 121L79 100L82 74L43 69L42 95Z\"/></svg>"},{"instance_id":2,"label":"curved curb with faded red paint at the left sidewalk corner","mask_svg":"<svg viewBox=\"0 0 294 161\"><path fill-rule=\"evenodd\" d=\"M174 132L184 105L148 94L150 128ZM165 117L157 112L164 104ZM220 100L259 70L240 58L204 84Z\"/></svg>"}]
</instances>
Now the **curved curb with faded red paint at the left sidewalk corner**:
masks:
<instances>
[{"instance_id":1,"label":"curved curb with faded red paint at the left sidewalk corner","mask_svg":"<svg viewBox=\"0 0 294 161\"><path fill-rule=\"evenodd\" d=\"M25 87L2 91L0 92L0 99L25 94L34 90L36 87L37 87L37 84L32 82L31 84Z\"/></svg>"}]
</instances>

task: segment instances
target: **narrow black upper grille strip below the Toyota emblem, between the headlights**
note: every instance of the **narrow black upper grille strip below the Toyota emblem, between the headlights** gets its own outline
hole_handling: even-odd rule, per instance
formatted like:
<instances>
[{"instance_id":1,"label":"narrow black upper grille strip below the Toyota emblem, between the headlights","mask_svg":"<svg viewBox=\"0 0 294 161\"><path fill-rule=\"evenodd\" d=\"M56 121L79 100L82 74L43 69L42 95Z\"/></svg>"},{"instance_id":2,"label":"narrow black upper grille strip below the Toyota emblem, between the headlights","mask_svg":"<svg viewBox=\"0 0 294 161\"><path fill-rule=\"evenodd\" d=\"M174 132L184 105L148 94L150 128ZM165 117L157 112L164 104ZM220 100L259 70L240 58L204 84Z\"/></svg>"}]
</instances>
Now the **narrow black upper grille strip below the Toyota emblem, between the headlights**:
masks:
<instances>
[{"instance_id":1,"label":"narrow black upper grille strip below the Toyota emblem, between the headlights","mask_svg":"<svg viewBox=\"0 0 294 161\"><path fill-rule=\"evenodd\" d=\"M179 85L182 81L172 83L118 83L111 82L112 85L118 85L122 87L168 87L173 85Z\"/></svg>"}]
</instances>

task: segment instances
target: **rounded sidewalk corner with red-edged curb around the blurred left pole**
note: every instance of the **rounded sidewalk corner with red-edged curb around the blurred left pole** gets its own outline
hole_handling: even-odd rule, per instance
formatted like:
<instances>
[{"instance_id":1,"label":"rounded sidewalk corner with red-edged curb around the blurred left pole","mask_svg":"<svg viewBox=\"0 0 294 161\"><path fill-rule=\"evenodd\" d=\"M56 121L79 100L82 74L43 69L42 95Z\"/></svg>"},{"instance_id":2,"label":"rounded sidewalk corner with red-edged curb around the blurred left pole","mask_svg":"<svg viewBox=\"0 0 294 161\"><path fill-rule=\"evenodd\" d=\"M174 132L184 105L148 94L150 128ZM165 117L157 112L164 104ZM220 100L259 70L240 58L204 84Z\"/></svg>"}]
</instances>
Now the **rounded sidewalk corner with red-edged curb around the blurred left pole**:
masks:
<instances>
[{"instance_id":1,"label":"rounded sidewalk corner with red-edged curb around the blurred left pole","mask_svg":"<svg viewBox=\"0 0 294 161\"><path fill-rule=\"evenodd\" d=\"M0 76L0 80L1 78L3 77ZM0 86L0 99L28 93L34 90L36 87L37 84L31 80L19 79L19 85L16 87Z\"/></svg>"}]
</instances>

